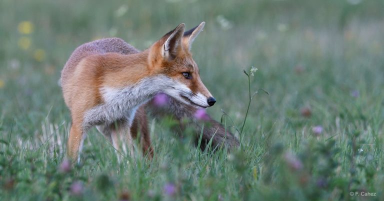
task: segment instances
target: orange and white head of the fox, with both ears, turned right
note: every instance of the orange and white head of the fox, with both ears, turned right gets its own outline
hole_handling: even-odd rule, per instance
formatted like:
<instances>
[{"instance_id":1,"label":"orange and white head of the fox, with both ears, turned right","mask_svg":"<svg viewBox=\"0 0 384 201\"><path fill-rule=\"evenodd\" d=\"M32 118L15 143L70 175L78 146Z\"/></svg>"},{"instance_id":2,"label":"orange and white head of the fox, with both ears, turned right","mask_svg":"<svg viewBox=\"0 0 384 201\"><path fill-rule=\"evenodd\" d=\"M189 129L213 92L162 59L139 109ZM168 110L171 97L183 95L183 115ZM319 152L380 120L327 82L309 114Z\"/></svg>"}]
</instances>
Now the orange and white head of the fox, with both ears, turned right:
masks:
<instances>
[{"instance_id":1,"label":"orange and white head of the fox, with both ears, turned right","mask_svg":"<svg viewBox=\"0 0 384 201\"><path fill-rule=\"evenodd\" d=\"M150 47L148 65L156 74L167 77L171 86L163 92L186 104L205 108L212 106L216 99L202 83L189 51L204 24L201 22L184 32L185 24L181 23L166 33Z\"/></svg>"}]
</instances>

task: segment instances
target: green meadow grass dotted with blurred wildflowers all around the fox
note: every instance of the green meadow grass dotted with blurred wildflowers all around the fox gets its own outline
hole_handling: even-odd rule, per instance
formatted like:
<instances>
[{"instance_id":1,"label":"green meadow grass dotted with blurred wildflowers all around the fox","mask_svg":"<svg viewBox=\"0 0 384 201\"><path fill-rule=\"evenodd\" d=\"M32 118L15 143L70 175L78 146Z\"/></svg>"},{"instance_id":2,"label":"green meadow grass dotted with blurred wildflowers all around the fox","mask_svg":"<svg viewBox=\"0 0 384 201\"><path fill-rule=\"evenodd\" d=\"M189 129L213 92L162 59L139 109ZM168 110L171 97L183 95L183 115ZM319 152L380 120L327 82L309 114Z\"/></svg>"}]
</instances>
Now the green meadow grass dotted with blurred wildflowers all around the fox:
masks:
<instances>
[{"instance_id":1,"label":"green meadow grass dotted with blurred wildflowers all around the fox","mask_svg":"<svg viewBox=\"0 0 384 201\"><path fill-rule=\"evenodd\" d=\"M2 0L0 200L383 200L382 6ZM135 163L117 163L92 129L83 163L64 168L70 118L57 80L71 51L108 36L144 49L180 22L188 28L202 20L192 52L217 99L207 111L233 119L222 118L240 148L200 151L155 118L153 160L135 153ZM242 69L250 66L258 68L250 94L261 87L270 95L260 91L247 109Z\"/></svg>"}]
</instances>

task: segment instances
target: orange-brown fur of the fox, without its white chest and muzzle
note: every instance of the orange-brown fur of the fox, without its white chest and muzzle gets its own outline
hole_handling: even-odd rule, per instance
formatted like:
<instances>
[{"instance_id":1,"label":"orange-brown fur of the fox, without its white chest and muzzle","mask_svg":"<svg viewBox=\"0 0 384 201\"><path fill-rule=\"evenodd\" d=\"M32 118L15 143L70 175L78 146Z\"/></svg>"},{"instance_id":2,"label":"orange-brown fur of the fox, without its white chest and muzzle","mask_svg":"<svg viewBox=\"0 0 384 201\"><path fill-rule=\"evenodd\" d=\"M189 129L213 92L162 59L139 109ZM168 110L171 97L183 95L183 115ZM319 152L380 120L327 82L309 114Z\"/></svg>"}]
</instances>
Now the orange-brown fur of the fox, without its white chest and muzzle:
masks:
<instances>
[{"instance_id":1,"label":"orange-brown fur of the fox, without its white chest and muzzle","mask_svg":"<svg viewBox=\"0 0 384 201\"><path fill-rule=\"evenodd\" d=\"M196 31L201 31L204 25L203 23L201 24ZM105 94L101 92L102 88L111 88L112 92L110 93L112 95L112 100L109 99L108 101L113 102L115 90L120 91L127 87L133 87L134 89L135 87L139 87L138 84L143 80L150 80L156 75L162 75L167 77L167 80L171 80L172 83L178 83L180 86L189 88L191 91L190 94L201 94L198 96L198 98L200 98L199 100L195 100L197 97L193 97L195 99L187 99L185 96L182 96L187 99L187 102L189 101L188 103L191 105L197 104L194 101L201 101L201 97L210 98L212 95L201 82L197 65L189 52L190 43L198 34L196 31L193 31L191 36L188 35L188 37L185 37L183 36L184 24L180 24L174 30L161 37L150 48L142 52L135 50L134 47L131 47L128 44L123 44L125 46L121 46L121 48L119 46L103 47L100 46L100 43L104 41L99 40L78 47L65 64L61 74L63 96L66 105L70 109L72 118L67 155L71 159L78 157L78 151L82 144L83 135L89 127L94 125L102 125L100 126L100 129L104 130L104 134L111 138L113 145L116 144L115 148L117 150L119 150L118 143L114 141L116 134L120 135L123 134L121 132L128 132L126 137L128 137L128 141L131 141L132 137L136 137L135 133L137 133L138 129L147 129L146 116L142 108L138 109L136 113L138 116L136 116L135 120L133 120L133 116L128 116L126 118L124 116L122 119L118 116L115 118L112 116L113 121L117 123L118 126L121 126L121 128L117 128L114 125L115 123L105 121L104 118L96 119L95 122L87 122L86 116L89 115L89 111L92 109L96 108L98 109L96 111L108 113L108 111L100 110L101 107L99 108L100 105L107 106L109 104L103 96ZM119 41L120 39L115 38L108 40L110 44L115 43L121 45ZM112 48L113 51L109 48ZM126 49L131 50L133 53L126 53ZM191 78L184 77L183 72L188 72L191 75ZM158 92L163 91L159 90ZM110 94L107 93L107 95ZM154 94L150 93L144 98L150 99L151 95ZM170 95L177 96L174 91L170 92ZM134 94L131 98L135 98ZM181 98L181 100L183 99ZM142 103L144 102L132 105L127 109L129 112L131 110L135 111L134 107L139 106ZM202 104L199 102L197 105ZM212 104L209 104L209 106L210 105ZM117 105L117 108L120 106L124 105ZM138 126L139 124L145 126L140 127ZM125 129L124 126L127 126L128 129ZM132 132L129 133L129 130ZM147 130L143 130L143 132L147 133ZM148 152L150 156L152 156L149 135L145 134L141 137L141 144L143 151Z\"/></svg>"}]
</instances>

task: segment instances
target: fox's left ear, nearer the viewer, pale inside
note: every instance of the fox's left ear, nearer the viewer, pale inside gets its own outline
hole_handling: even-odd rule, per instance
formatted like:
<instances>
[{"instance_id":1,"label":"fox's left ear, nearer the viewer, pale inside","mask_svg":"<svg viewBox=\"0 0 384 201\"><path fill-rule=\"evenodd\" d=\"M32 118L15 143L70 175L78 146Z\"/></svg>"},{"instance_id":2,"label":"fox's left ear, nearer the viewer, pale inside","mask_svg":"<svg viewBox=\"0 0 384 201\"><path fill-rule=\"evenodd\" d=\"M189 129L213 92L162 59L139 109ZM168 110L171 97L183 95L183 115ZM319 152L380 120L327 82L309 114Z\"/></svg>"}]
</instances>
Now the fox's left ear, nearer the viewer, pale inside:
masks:
<instances>
[{"instance_id":1,"label":"fox's left ear, nearer the viewer, pale inside","mask_svg":"<svg viewBox=\"0 0 384 201\"><path fill-rule=\"evenodd\" d=\"M167 38L162 45L162 56L166 59L172 60L176 57L177 52L181 48L181 39L185 30L185 24L180 23L175 29L169 31L164 35Z\"/></svg>"}]
</instances>

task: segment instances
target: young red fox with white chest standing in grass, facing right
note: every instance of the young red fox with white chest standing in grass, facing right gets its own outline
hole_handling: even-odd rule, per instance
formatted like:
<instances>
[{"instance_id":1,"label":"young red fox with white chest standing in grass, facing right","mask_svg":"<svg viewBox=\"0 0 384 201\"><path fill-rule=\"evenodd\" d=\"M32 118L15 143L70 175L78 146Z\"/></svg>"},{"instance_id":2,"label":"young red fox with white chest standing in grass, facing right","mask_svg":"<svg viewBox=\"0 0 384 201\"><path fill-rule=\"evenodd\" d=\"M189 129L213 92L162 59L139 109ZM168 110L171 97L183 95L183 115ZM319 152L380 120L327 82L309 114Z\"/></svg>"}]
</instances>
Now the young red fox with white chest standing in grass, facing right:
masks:
<instances>
[{"instance_id":1,"label":"young red fox with white chest standing in grass, facing right","mask_svg":"<svg viewBox=\"0 0 384 201\"><path fill-rule=\"evenodd\" d=\"M169 31L148 49L139 51L120 38L104 38L77 47L61 71L63 97L71 113L67 156L79 161L86 131L96 126L119 150L119 140L128 144L140 132L143 152L151 157L145 107L155 94L169 96L169 109L176 119L193 119L198 108L215 103L215 98L199 77L197 64L190 53L191 43L204 26L184 32L184 23ZM203 139L213 136L212 144L237 139L216 121L205 128ZM194 121L196 131L198 123ZM208 133L210 132L210 133Z\"/></svg>"}]
</instances>

